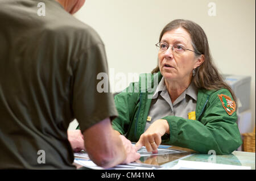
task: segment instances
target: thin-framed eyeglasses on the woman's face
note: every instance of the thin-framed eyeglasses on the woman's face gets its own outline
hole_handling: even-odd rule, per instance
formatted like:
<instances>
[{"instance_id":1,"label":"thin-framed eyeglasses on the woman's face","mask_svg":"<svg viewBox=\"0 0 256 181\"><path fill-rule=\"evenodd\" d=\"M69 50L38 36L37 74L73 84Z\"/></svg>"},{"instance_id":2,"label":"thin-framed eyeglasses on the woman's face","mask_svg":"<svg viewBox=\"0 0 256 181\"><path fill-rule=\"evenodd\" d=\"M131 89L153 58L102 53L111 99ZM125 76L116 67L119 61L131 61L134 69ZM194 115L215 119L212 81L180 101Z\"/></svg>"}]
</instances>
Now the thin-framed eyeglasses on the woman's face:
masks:
<instances>
[{"instance_id":1,"label":"thin-framed eyeglasses on the woman's face","mask_svg":"<svg viewBox=\"0 0 256 181\"><path fill-rule=\"evenodd\" d=\"M191 52L195 52L191 49L187 49L185 48L183 45L181 44L176 44L174 46L169 45L168 43L165 42L159 42L157 44L155 44L156 47L159 49L159 51L164 52L166 51L169 47L171 47L172 51L175 52L176 54L182 54L185 52L185 50L189 50ZM196 53L196 52L195 52ZM201 53L196 53L196 54L201 54Z\"/></svg>"}]
</instances>

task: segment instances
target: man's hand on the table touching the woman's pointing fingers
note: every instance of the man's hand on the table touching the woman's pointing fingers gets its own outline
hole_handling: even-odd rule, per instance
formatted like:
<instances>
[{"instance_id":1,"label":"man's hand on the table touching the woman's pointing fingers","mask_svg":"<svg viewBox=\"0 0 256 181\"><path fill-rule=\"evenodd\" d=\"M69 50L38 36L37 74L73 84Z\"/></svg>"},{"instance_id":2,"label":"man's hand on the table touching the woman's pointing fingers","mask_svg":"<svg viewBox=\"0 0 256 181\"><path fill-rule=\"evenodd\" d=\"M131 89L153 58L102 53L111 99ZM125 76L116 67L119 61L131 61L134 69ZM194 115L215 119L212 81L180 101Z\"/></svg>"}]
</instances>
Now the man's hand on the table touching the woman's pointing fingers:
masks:
<instances>
[{"instance_id":1,"label":"man's hand on the table touching the woman's pointing fingers","mask_svg":"<svg viewBox=\"0 0 256 181\"><path fill-rule=\"evenodd\" d=\"M122 164L131 163L134 161L137 161L141 157L139 153L137 153L137 149L134 145L131 144L130 140L127 140L127 138L123 135L119 136L123 142L123 147L125 147L126 150L126 159L123 161Z\"/></svg>"}]
</instances>

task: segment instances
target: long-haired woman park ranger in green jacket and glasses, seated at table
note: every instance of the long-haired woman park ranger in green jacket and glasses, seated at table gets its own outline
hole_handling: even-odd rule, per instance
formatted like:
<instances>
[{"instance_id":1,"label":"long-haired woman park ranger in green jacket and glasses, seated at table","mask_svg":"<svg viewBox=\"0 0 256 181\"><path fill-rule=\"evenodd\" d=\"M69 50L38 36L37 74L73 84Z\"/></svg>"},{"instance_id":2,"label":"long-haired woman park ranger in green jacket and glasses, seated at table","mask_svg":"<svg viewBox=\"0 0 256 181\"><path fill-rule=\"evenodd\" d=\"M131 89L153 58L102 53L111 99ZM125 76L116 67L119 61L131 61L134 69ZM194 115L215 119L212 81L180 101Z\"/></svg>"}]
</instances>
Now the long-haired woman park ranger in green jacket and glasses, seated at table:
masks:
<instances>
[{"instance_id":1,"label":"long-haired woman park ranger in green jacket and glasses, seated at table","mask_svg":"<svg viewBox=\"0 0 256 181\"><path fill-rule=\"evenodd\" d=\"M190 20L173 20L156 47L158 66L115 95L115 131L147 151L169 144L232 153L242 144L236 97L213 64L204 30Z\"/></svg>"}]
</instances>

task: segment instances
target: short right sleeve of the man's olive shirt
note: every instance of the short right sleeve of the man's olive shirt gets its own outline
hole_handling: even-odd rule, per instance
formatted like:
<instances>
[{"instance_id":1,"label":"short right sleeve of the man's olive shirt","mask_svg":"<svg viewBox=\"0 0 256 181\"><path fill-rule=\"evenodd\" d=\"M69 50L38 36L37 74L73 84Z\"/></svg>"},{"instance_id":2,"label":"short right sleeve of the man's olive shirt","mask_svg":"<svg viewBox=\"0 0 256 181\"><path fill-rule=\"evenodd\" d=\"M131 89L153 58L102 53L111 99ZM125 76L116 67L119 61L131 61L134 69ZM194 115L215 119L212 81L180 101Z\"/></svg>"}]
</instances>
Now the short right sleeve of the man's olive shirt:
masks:
<instances>
[{"instance_id":1,"label":"short right sleeve of the man's olive shirt","mask_svg":"<svg viewBox=\"0 0 256 181\"><path fill-rule=\"evenodd\" d=\"M109 90L105 48L99 43L86 49L73 69L72 108L81 132L107 117L113 120L118 116Z\"/></svg>"}]
</instances>

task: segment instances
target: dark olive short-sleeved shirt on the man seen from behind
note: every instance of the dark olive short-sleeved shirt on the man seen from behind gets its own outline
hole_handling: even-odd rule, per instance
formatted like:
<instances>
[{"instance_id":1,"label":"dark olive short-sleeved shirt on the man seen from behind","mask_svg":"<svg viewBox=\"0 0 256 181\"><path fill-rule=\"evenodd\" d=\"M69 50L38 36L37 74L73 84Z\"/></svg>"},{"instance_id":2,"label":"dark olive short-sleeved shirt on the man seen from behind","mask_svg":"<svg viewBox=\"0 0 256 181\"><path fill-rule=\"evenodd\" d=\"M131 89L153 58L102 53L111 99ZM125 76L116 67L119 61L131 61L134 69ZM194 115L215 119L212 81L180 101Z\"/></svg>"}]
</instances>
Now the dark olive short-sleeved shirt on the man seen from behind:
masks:
<instances>
[{"instance_id":1,"label":"dark olive short-sleeved shirt on the man seen from behind","mask_svg":"<svg viewBox=\"0 0 256 181\"><path fill-rule=\"evenodd\" d=\"M0 24L0 169L75 169L69 123L118 115L102 40L54 0L0 1Z\"/></svg>"}]
</instances>

